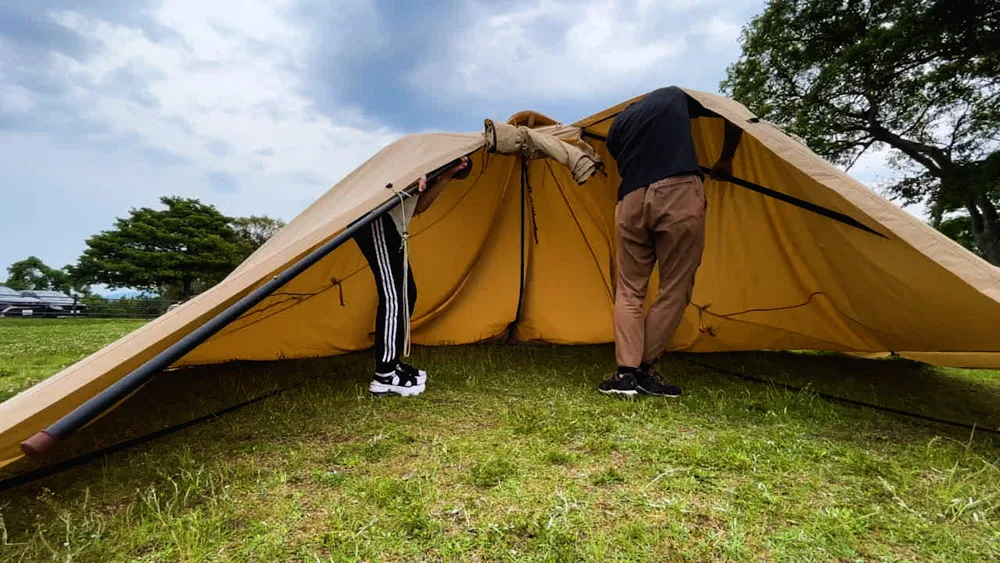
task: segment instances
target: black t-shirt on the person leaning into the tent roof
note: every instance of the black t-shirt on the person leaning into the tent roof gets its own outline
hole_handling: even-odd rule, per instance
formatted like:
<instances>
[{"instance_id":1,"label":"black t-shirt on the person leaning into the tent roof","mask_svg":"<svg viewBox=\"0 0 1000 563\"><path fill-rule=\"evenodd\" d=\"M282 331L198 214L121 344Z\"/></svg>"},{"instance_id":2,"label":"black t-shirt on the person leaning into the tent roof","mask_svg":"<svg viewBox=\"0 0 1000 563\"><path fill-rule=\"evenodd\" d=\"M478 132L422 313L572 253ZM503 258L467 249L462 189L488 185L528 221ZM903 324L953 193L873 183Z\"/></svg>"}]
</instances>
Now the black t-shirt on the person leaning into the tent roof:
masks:
<instances>
[{"instance_id":1,"label":"black t-shirt on the person leaning into the tent roof","mask_svg":"<svg viewBox=\"0 0 1000 563\"><path fill-rule=\"evenodd\" d=\"M660 88L626 107L608 131L608 150L622 177L618 199L653 182L697 174L691 120L716 114L676 86Z\"/></svg>"}]
</instances>

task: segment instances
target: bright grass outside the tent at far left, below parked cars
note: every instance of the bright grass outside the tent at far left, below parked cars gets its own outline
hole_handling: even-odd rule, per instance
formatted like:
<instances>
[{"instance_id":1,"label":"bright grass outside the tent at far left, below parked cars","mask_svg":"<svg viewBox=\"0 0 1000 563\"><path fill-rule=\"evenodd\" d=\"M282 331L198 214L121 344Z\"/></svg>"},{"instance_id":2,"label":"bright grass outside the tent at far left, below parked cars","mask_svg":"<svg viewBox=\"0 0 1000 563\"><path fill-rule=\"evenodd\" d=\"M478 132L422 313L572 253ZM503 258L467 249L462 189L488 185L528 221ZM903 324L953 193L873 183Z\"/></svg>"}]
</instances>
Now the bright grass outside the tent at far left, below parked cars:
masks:
<instances>
[{"instance_id":1,"label":"bright grass outside the tent at far left, below parked cars","mask_svg":"<svg viewBox=\"0 0 1000 563\"><path fill-rule=\"evenodd\" d=\"M0 319L0 401L114 342L144 322Z\"/></svg>"}]
</instances>

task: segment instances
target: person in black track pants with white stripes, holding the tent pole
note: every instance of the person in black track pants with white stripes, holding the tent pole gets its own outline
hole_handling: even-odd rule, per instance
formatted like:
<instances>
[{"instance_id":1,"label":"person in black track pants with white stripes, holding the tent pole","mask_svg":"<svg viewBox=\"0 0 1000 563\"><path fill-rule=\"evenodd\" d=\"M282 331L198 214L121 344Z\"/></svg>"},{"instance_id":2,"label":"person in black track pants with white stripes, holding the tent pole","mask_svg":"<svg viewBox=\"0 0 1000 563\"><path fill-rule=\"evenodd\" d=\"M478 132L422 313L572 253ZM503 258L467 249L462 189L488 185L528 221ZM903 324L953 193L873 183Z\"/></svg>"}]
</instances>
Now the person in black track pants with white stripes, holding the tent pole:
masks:
<instances>
[{"instance_id":1,"label":"person in black track pants with white stripes, holding the tent pole","mask_svg":"<svg viewBox=\"0 0 1000 563\"><path fill-rule=\"evenodd\" d=\"M436 178L428 181L426 176L421 177L414 214L426 211L449 180L465 178L471 169L468 157L463 156ZM353 238L368 261L378 288L375 375L369 391L376 396L419 395L424 391L427 373L400 360L409 333L409 319L417 301L412 269L403 255L403 237L392 216L385 213L360 229Z\"/></svg>"}]
</instances>

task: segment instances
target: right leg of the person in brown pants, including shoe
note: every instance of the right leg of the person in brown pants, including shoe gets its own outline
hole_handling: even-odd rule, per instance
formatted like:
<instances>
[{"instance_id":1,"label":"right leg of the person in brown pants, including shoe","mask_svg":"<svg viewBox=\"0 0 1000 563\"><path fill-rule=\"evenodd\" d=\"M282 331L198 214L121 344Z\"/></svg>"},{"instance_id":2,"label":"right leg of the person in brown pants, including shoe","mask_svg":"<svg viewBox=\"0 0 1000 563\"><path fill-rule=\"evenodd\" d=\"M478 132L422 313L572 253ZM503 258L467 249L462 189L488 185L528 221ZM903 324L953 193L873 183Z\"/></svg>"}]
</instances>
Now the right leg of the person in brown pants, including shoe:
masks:
<instances>
[{"instance_id":1,"label":"right leg of the person in brown pants, including shoe","mask_svg":"<svg viewBox=\"0 0 1000 563\"><path fill-rule=\"evenodd\" d=\"M659 293L646 316L641 371L648 373L666 350L691 302L705 248L705 192L700 178L684 176L653 184L647 199L660 271ZM640 390L642 384L640 377ZM654 377L648 386L656 385ZM676 388L649 391L680 394Z\"/></svg>"}]
</instances>

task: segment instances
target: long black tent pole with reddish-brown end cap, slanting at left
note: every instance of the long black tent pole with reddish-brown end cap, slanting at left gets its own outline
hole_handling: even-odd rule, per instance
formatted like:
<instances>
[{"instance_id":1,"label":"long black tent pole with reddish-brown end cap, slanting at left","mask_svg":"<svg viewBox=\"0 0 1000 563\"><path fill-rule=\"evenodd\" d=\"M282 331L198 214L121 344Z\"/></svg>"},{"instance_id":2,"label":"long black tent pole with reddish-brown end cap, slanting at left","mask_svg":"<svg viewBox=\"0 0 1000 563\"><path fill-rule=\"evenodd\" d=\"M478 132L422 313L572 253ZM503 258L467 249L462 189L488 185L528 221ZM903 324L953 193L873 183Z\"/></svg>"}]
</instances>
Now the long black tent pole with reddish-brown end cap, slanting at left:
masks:
<instances>
[{"instance_id":1,"label":"long black tent pole with reddish-brown end cap, slanting at left","mask_svg":"<svg viewBox=\"0 0 1000 563\"><path fill-rule=\"evenodd\" d=\"M432 180L440 176L451 164L442 166L427 174L427 179ZM392 185L386 186L392 188ZM405 198L412 197L417 192L416 184L402 190ZM67 413L45 430L37 432L27 440L21 442L21 451L29 457L40 459L60 440L76 432L90 421L94 420L101 413L109 410L116 403L129 396L130 393L141 387L144 383L152 379L156 374L181 359L185 354L193 350L202 342L208 340L212 335L222 330L226 325L235 321L243 313L246 313L265 297L274 293L278 288L290 282L296 276L306 271L310 266L322 260L326 255L333 252L337 247L346 242L361 228L368 226L372 221L388 213L401 203L401 198L393 196L389 201L372 209L362 217L347 226L340 234L324 243L316 250L310 252L287 270L279 273L264 285L253 290L248 295L232 304L225 311L222 311L205 324L199 326L191 333L172 344L166 350L160 352L152 359L142 364L135 371L119 379L106 389L90 398L76 409Z\"/></svg>"}]
</instances>

